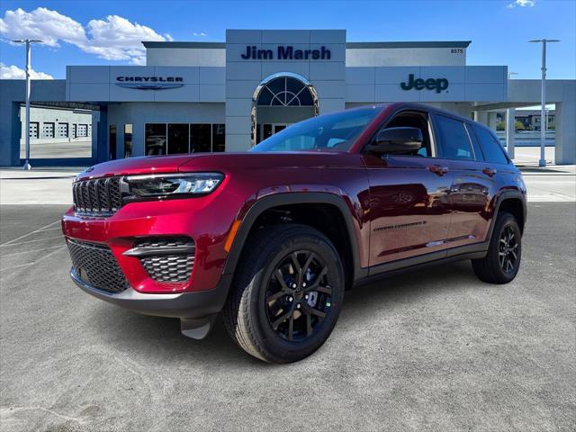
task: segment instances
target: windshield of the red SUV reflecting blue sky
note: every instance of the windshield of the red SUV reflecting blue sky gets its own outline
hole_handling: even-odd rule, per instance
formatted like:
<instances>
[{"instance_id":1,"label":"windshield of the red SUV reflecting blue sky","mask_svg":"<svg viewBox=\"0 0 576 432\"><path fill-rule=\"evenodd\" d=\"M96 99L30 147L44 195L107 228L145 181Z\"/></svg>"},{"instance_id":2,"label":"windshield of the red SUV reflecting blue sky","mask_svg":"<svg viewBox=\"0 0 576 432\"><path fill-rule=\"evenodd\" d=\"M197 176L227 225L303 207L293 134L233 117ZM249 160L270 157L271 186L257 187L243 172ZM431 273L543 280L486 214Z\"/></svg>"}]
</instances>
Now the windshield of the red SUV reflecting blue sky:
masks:
<instances>
[{"instance_id":1,"label":"windshield of the red SUV reflecting blue sky","mask_svg":"<svg viewBox=\"0 0 576 432\"><path fill-rule=\"evenodd\" d=\"M347 151L381 110L382 107L371 106L301 121L275 133L250 151Z\"/></svg>"}]
</instances>

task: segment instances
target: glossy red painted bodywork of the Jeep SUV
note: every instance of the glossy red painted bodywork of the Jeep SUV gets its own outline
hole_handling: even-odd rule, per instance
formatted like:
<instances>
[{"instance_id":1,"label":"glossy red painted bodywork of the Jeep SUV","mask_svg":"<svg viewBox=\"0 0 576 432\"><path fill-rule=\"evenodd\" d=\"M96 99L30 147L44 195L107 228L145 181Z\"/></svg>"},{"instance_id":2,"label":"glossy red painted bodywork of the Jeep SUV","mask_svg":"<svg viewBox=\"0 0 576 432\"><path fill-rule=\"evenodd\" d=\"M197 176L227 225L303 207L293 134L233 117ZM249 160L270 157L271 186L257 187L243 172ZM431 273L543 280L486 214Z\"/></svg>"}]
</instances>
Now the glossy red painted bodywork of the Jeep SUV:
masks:
<instances>
[{"instance_id":1,"label":"glossy red painted bodywork of the Jeep SUV","mask_svg":"<svg viewBox=\"0 0 576 432\"><path fill-rule=\"evenodd\" d=\"M131 202L108 218L83 218L70 209L63 217L64 234L110 246L130 285L142 293L214 288L228 257L225 245L233 222L242 220L257 200L275 193L326 192L344 200L355 227L361 267L483 241L498 194L505 189L523 190L515 166L362 153L395 112L415 107L428 110L399 103L383 108L347 152L134 157L95 166L78 179L194 171L218 171L225 178L206 196ZM434 166L448 170L439 175ZM482 174L486 168L494 174ZM134 238L156 235L194 239L190 283L154 282L137 258L122 255Z\"/></svg>"}]
</instances>

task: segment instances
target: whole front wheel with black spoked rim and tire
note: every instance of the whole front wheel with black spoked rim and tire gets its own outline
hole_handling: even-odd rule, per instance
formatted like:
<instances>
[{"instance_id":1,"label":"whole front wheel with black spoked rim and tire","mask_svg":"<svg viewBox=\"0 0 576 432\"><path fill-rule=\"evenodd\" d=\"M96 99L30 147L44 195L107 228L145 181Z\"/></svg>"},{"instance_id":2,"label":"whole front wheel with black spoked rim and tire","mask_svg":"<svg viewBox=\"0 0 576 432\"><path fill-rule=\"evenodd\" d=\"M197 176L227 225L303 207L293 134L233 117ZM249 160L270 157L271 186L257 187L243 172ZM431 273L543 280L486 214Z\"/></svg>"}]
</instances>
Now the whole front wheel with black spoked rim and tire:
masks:
<instances>
[{"instance_id":1,"label":"whole front wheel with black spoked rim and tire","mask_svg":"<svg viewBox=\"0 0 576 432\"><path fill-rule=\"evenodd\" d=\"M336 248L316 229L279 224L248 238L242 256L223 311L231 338L269 363L310 356L329 338L344 299Z\"/></svg>"}]
</instances>

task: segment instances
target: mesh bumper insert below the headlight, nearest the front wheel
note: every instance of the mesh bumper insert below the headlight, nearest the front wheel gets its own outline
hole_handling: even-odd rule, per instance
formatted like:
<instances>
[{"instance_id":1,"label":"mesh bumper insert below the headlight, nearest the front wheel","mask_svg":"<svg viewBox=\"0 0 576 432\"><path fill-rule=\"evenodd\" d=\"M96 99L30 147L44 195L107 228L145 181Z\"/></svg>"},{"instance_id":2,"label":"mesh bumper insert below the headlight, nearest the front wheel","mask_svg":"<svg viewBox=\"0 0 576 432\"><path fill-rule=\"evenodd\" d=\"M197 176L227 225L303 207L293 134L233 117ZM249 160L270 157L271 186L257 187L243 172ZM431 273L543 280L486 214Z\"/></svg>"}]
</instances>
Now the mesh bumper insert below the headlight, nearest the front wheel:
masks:
<instances>
[{"instance_id":1,"label":"mesh bumper insert below the headlight, nearest the front wheel","mask_svg":"<svg viewBox=\"0 0 576 432\"><path fill-rule=\"evenodd\" d=\"M188 282L192 275L194 254L190 253L194 242L192 238L146 238L139 240L135 247L147 250L147 255L140 257L140 263L148 275L157 282ZM166 253L170 248L172 252ZM177 253L177 249L186 250ZM193 250L193 249L192 249Z\"/></svg>"}]
</instances>

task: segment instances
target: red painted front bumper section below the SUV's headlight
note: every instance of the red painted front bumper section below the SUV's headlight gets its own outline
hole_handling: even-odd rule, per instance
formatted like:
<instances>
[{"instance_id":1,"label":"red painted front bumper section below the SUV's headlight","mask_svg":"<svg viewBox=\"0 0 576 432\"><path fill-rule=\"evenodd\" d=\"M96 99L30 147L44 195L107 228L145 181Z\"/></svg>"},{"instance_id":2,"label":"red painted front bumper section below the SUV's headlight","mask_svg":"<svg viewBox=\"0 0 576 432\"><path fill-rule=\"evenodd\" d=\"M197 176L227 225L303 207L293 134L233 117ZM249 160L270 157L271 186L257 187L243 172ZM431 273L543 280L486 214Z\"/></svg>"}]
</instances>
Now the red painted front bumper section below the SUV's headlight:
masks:
<instances>
[{"instance_id":1,"label":"red painted front bumper section below the SUV's headlight","mask_svg":"<svg viewBox=\"0 0 576 432\"><path fill-rule=\"evenodd\" d=\"M69 240L109 248L127 283L139 293L210 291L220 283L228 255L224 244L236 214L218 192L191 199L131 202L109 217L86 217L72 208L63 216L62 230ZM188 260L167 257L174 259L167 263L174 266L174 277L162 277L166 270L162 257L130 253L142 241L177 238L190 239L194 250ZM158 256L164 255L157 250Z\"/></svg>"}]
</instances>

